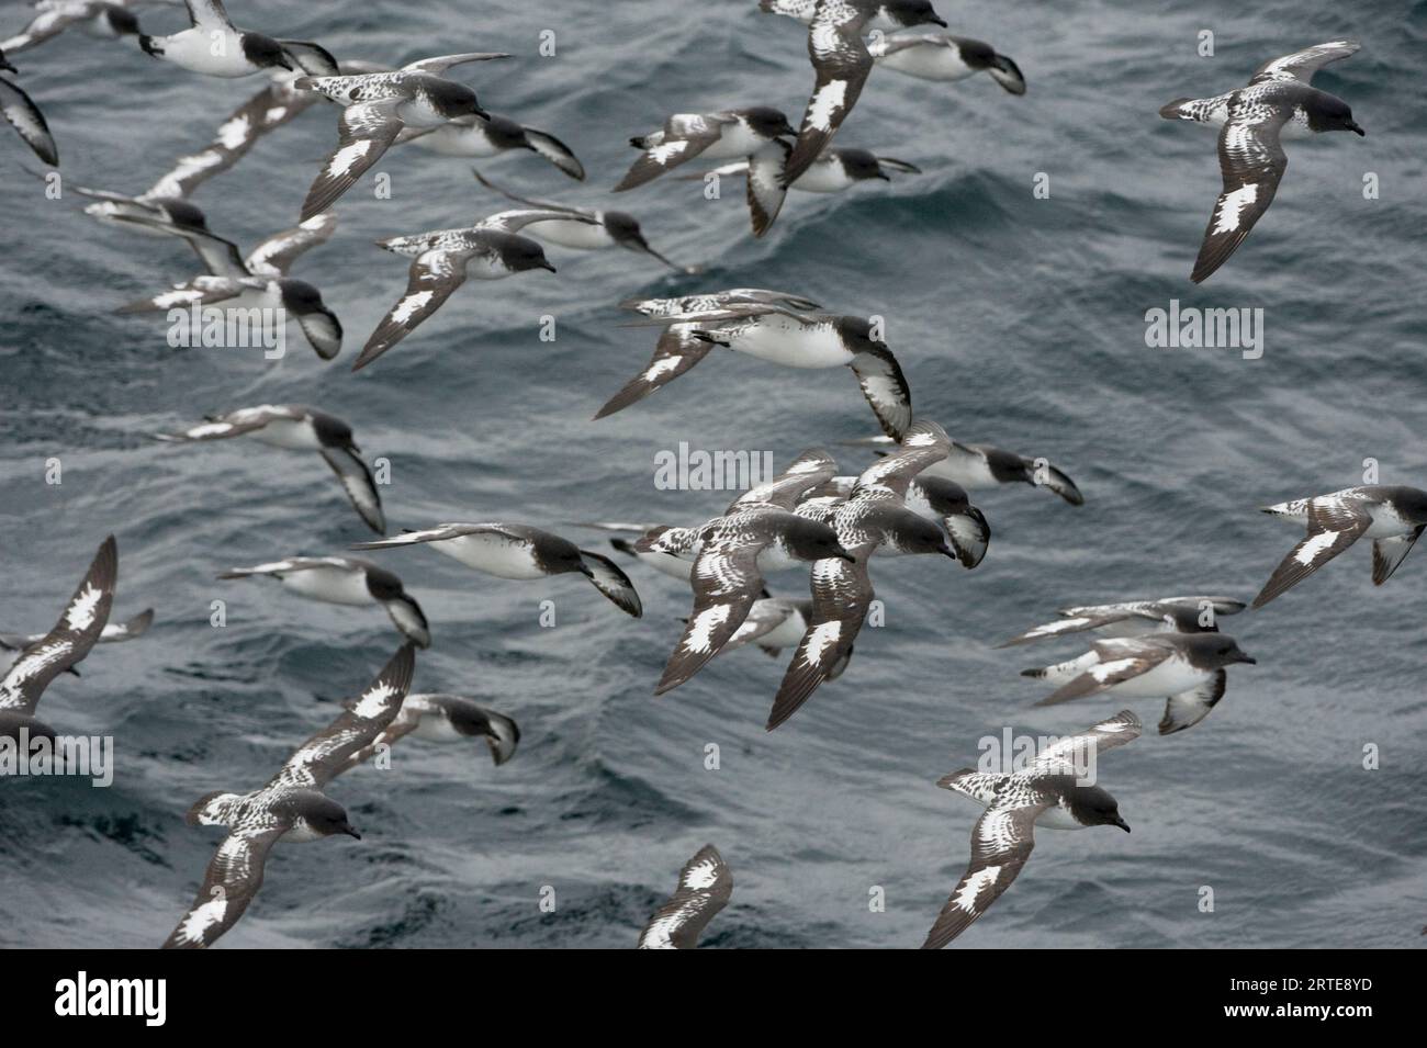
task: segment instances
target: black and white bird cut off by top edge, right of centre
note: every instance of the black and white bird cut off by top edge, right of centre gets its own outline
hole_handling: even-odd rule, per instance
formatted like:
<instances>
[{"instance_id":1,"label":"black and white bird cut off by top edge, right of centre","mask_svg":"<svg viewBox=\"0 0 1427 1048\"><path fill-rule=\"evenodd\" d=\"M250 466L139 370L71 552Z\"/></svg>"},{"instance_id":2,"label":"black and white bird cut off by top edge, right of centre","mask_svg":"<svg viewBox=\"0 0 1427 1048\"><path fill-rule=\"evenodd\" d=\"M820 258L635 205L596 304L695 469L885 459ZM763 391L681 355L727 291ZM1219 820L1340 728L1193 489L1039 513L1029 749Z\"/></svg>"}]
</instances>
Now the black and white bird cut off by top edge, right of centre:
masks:
<instances>
[{"instance_id":1,"label":"black and white bird cut off by top edge, right of centre","mask_svg":"<svg viewBox=\"0 0 1427 1048\"><path fill-rule=\"evenodd\" d=\"M946 29L930 0L761 0L759 7L809 23L808 56L816 80L798 141L783 167L783 185L802 178L858 104L873 66L862 41L863 31L912 26Z\"/></svg>"}]
</instances>

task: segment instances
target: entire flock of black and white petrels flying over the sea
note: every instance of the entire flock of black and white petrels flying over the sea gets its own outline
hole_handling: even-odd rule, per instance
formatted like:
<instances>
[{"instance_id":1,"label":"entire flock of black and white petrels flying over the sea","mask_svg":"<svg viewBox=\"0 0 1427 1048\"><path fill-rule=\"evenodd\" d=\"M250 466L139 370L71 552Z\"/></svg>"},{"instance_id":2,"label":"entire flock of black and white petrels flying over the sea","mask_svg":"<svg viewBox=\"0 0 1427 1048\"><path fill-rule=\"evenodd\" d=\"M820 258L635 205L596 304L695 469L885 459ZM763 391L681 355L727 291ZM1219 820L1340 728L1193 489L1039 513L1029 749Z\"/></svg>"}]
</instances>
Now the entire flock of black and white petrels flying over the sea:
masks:
<instances>
[{"instance_id":1,"label":"entire flock of black and white petrels flying over the sea","mask_svg":"<svg viewBox=\"0 0 1427 1048\"><path fill-rule=\"evenodd\" d=\"M288 277L288 271L303 252L332 235L331 205L388 148L410 141L417 148L472 158L529 151L572 180L585 178L585 167L559 138L489 113L474 90L452 78L457 67L507 60L509 54L448 54L400 68L367 60L337 61L317 43L238 29L218 0L187 0L190 27L168 36L144 34L131 10L137 6L128 0L40 0L31 23L0 41L0 70L17 71L6 54L26 54L77 27L101 38L134 37L147 56L191 73L261 73L270 83L224 121L211 144L181 157L148 191L128 197L77 190L90 201L86 212L97 220L186 240L205 271L120 312L214 304L281 308L301 327L317 355L332 359L341 351L342 327L321 292ZM788 190L839 192L858 183L890 180L892 173L918 174L905 161L831 144L875 67L935 81L985 71L1012 96L1026 93L1026 80L1012 58L977 40L929 31L926 27L946 27L929 0L761 0L759 7L808 23L815 80L799 127L768 106L671 115L661 128L631 138L639 155L615 192L645 187L695 158L726 161L712 171L746 181L752 231L763 237L779 217ZM1286 165L1280 137L1290 131L1363 134L1346 103L1310 86L1321 66L1357 50L1350 40L1310 47L1264 64L1246 87L1209 98L1180 98L1160 111L1166 118L1222 128L1223 191L1193 281L1223 265L1271 202ZM294 227L244 255L208 228L203 211L187 197L235 164L260 137L321 100L337 107L337 147L315 174ZM44 115L9 77L0 77L0 111L36 157L59 164ZM411 335L467 278L554 272L539 241L574 250L619 247L681 274L696 272L652 248L638 220L625 211L525 197L479 171L475 177L494 195L518 207L471 225L381 241L384 250L411 260L407 288L365 341L354 369L372 364ZM622 307L638 315L631 327L656 328L658 341L649 364L609 398L596 419L662 389L718 346L785 368L850 368L882 429L882 436L855 442L876 453L856 475L839 473L831 451L809 448L779 476L741 493L722 510L705 509L702 522L695 516L686 525L585 525L619 533L611 539L618 553L686 580L692 589L684 632L654 686L655 694L696 673L716 673L708 666L725 652L753 644L778 656L792 649L766 723L769 730L776 729L821 684L848 670L873 599L875 556L945 556L975 569L987 555L992 530L969 492L1027 483L1073 506L1085 502L1075 482L1049 459L963 443L935 421L913 415L910 386L898 358L878 325L863 317L825 311L802 295L762 288L636 298ZM258 405L158 436L174 443L241 436L271 448L318 452L367 528L387 535L372 471L342 419L301 405ZM1427 492L1350 488L1264 512L1304 525L1307 535L1254 597L1256 609L1359 538L1373 540L1373 582L1386 582L1427 528ZM352 550L385 555L402 546L430 546L502 579L582 575L621 612L642 615L634 583L614 559L539 528L509 520L448 522L354 543ZM768 590L765 575L789 569L806 573L811 600ZM133 640L148 629L151 610L123 625L108 623L117 575L117 546L110 536L54 629L44 635L0 635L0 646L19 652L0 680L0 736L53 739L54 730L36 719L46 686L61 672L74 673L76 663L96 643ZM471 699L411 693L415 652L432 643L431 629L415 597L387 567L354 556L285 556L233 567L220 577L271 577L311 600L380 606L404 640L375 679L331 724L303 743L267 784L248 793L210 793L193 806L190 823L223 827L227 836L197 898L166 942L170 947L211 945L231 928L257 894L275 841L360 837L347 811L325 790L384 746L407 734L432 741L481 739L501 764L519 740L515 721ZM1254 662L1233 637L1219 632L1219 616L1244 609L1241 600L1210 595L1067 607L1059 619L1005 646L1085 632L1099 635L1083 654L1025 672L1055 689L1040 704L1100 693L1164 699L1159 731L1173 734L1197 724L1223 699L1230 664ZM1030 854L1035 826L1129 830L1109 793L1077 780L1077 760L1086 751L1127 743L1140 730L1139 717L1126 710L1060 739L1023 769L963 769L938 781L980 804L985 813L972 828L966 873L932 924L926 947L949 942L1006 890ZM675 894L649 920L638 945L696 945L699 933L731 894L729 868L718 850L706 846L681 870Z\"/></svg>"}]
</instances>

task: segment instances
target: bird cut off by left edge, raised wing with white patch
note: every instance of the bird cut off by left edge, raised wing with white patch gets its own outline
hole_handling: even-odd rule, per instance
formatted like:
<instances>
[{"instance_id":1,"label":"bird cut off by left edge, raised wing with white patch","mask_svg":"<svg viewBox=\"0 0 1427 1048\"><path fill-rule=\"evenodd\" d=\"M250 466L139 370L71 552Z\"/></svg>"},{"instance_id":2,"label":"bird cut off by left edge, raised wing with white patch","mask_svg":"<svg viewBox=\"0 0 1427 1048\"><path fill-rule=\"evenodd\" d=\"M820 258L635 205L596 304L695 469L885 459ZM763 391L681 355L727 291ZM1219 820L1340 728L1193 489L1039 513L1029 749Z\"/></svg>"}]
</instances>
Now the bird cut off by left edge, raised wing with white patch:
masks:
<instances>
[{"instance_id":1,"label":"bird cut off by left edge, raised wing with white patch","mask_svg":"<svg viewBox=\"0 0 1427 1048\"><path fill-rule=\"evenodd\" d=\"M0 677L0 739L20 741L21 731L30 739L54 739L54 729L36 720L34 709L50 682L88 654L100 639L114 603L117 579L118 545L110 535L100 545L54 629L26 644Z\"/></svg>"}]
</instances>

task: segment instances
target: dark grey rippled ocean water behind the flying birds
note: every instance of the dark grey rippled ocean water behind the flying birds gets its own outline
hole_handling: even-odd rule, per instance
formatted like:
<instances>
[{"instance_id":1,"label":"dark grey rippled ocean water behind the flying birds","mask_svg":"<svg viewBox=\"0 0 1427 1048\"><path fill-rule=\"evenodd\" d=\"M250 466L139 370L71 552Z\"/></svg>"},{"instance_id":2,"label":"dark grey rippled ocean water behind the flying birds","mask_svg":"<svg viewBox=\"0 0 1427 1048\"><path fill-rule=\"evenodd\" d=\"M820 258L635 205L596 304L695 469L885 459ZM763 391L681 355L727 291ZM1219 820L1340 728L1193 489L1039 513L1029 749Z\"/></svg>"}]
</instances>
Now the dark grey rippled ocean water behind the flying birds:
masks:
<instances>
[{"instance_id":1,"label":"dark grey rippled ocean water behind the flying birds","mask_svg":"<svg viewBox=\"0 0 1427 1048\"><path fill-rule=\"evenodd\" d=\"M355 349L404 287L378 237L459 225L499 202L468 163L392 151L340 201L332 241L295 275L347 328L323 364L295 342L171 349L158 321L118 304L193 272L181 242L126 235L46 200L33 158L0 128L0 629L41 630L94 548L118 536L116 617L157 609L143 642L96 649L49 690L63 731L110 734L111 788L66 779L0 790L0 944L150 947L193 898L217 843L183 813L215 788L265 781L395 650L377 609L303 602L215 572L367 538L313 455L241 441L161 446L147 433L204 412L307 402L347 418L387 456L392 528L447 519L554 526L601 518L695 522L728 499L656 490L654 458L679 441L772 451L870 432L842 371L783 371L714 354L694 375L598 423L604 399L648 359L654 335L615 304L725 287L805 294L882 314L919 413L960 439L1046 455L1086 495L1070 508L1030 488L979 493L995 529L986 562L879 562L888 623L848 673L776 733L763 731L781 666L716 660L651 697L689 599L628 570L645 617L578 579L512 583L430 550L385 555L432 620L421 690L471 694L515 717L515 759L408 740L391 771L361 769L331 794L365 840L278 847L224 947L629 947L679 865L718 844L733 871L715 947L913 947L968 857L975 808L935 780L973 763L1003 726L1036 734L1119 709L1032 709L1017 670L1073 644L992 644L1063 605L1180 592L1253 596L1291 543L1256 512L1361 482L1427 481L1421 317L1427 245L1427 3L1273 0L963 4L952 30L1010 54L1030 90L986 77L929 84L875 71L839 135L909 160L920 177L839 197L795 194L765 241L738 194L705 201L661 180L621 198L656 248L706 267L672 275L624 252L548 248L558 275L471 282L372 368ZM669 111L766 103L796 121L812 83L803 31L752 0L293 4L233 0L235 20L323 41L342 58L407 61L508 50L459 73L492 111L552 131L584 160L578 185L535 157L482 161L537 195L608 202L625 140ZM6 4L0 27L26 10ZM174 13L146 10L158 31ZM537 57L554 29L558 57ZM1196 54L1212 30L1216 57ZM1290 143L1277 201L1206 285L1187 277L1219 188L1213 133L1156 115L1180 96L1247 80L1264 60L1353 36L1360 54L1317 84L1347 98L1366 138ZM44 108L63 174L138 192L205 144L257 78L207 80L133 46L66 36L16 56ZM295 221L331 110L264 140L195 202L250 244ZM1050 197L1032 194L1037 173ZM1364 200L1374 173L1380 198ZM1144 314L1263 308L1261 359L1153 349ZM542 342L542 315L558 338ZM846 472L870 459L839 448ZM44 483L59 456L63 483ZM1418 553L1418 558L1423 555ZM798 593L803 576L773 580ZM1134 827L1040 834L1035 857L965 947L1401 947L1427 921L1427 563L1383 589L1353 549L1263 612L1232 619L1254 667L1192 731L1150 730L1114 751L1102 784ZM228 602L213 629L208 606ZM558 625L542 629L539 602ZM1134 702L1146 721L1159 706ZM704 769L721 747L722 767ZM1376 744L1381 769L1361 767ZM538 907L551 885L557 910ZM870 913L882 885L886 911ZM1200 913L1200 888L1214 913Z\"/></svg>"}]
</instances>

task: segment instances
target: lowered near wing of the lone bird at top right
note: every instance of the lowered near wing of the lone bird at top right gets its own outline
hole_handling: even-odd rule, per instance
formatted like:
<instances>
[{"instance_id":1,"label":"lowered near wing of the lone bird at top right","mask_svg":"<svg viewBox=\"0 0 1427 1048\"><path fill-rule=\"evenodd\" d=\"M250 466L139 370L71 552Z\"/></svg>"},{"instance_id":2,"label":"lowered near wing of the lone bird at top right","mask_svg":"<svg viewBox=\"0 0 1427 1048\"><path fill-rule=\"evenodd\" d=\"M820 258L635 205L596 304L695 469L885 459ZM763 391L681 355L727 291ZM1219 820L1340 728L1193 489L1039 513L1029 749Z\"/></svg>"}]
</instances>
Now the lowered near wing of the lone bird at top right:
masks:
<instances>
[{"instance_id":1,"label":"lowered near wing of the lone bird at top right","mask_svg":"<svg viewBox=\"0 0 1427 1048\"><path fill-rule=\"evenodd\" d=\"M1229 120L1219 131L1219 170L1224 188L1204 230L1204 242L1190 279L1207 279L1243 244L1279 191L1289 157L1279 144L1287 110L1243 96L1229 103Z\"/></svg>"}]
</instances>

